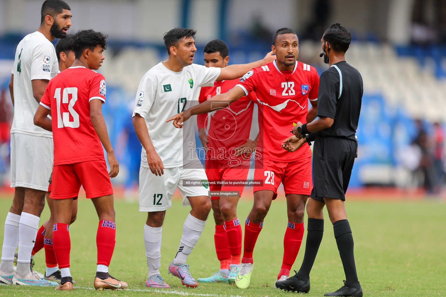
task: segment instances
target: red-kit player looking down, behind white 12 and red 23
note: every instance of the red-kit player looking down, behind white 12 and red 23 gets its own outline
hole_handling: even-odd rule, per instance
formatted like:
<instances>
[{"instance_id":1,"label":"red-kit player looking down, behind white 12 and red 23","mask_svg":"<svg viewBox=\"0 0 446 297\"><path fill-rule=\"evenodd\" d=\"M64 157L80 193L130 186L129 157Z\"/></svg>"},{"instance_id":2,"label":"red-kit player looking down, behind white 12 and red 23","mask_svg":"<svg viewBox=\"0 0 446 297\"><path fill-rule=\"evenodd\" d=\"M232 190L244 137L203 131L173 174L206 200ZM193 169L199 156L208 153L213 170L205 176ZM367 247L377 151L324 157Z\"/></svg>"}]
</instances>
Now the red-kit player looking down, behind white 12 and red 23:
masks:
<instances>
[{"instance_id":1,"label":"red-kit player looking down, behind white 12 and red 23","mask_svg":"<svg viewBox=\"0 0 446 297\"><path fill-rule=\"evenodd\" d=\"M210 41L204 48L206 67L224 68L229 61L229 49L222 40ZM202 87L199 102L231 90L239 79L216 81L212 87ZM257 138L249 139L252 111L256 96L254 93L214 114L197 116L198 132L206 150L206 175L209 180L233 179L245 181L248 177L252 151ZM207 122L210 121L208 135ZM223 153L221 153L223 149ZM235 155L236 153L236 155ZM235 156L234 156L235 155ZM211 277L199 278L200 282L235 281L242 251L242 227L237 217L237 203L244 186L209 185L211 191L238 191L237 196L211 196L215 220L215 251L220 261L220 270Z\"/></svg>"}]
</instances>

